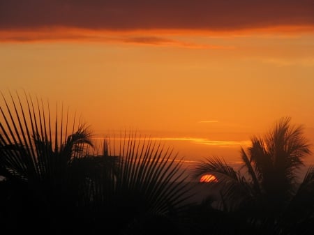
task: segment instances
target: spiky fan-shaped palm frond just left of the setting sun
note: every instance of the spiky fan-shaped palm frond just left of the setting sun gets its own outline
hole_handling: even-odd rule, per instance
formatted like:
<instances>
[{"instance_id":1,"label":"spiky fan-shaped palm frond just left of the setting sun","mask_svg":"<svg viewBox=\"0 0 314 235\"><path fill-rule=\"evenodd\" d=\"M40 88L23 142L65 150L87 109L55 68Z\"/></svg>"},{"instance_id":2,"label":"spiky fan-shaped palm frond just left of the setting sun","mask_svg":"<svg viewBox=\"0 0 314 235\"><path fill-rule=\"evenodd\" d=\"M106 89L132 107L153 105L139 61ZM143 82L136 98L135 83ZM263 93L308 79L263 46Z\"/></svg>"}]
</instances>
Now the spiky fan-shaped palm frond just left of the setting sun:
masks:
<instances>
[{"instance_id":1,"label":"spiky fan-shaped palm frond just left of the setting sun","mask_svg":"<svg viewBox=\"0 0 314 235\"><path fill-rule=\"evenodd\" d=\"M107 218L103 213L110 211L112 226L118 223L122 229L134 221L151 216L171 217L185 209L190 188L186 169L182 168L184 160L177 160L173 149L165 149L163 144L152 139L139 138L134 133L121 139L120 143L115 141L120 152L112 156L119 158L112 171L114 176L102 179L108 177L103 174L96 179L93 198L98 200L94 201L96 208L103 208L99 219Z\"/></svg>"}]
</instances>

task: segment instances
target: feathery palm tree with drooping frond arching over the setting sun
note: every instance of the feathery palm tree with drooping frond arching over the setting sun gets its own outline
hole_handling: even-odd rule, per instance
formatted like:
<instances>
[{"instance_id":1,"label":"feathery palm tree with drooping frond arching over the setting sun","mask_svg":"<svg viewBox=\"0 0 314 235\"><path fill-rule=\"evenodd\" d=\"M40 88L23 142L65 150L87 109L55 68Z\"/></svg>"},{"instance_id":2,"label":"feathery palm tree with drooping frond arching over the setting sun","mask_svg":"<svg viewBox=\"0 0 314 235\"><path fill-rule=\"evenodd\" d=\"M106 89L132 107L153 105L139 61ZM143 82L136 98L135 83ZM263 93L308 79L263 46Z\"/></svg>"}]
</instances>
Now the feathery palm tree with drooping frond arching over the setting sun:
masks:
<instances>
[{"instance_id":1,"label":"feathery palm tree with drooping frond arching over the setting sun","mask_svg":"<svg viewBox=\"0 0 314 235\"><path fill-rule=\"evenodd\" d=\"M275 222L287 209L298 192L298 169L311 153L303 127L290 120L279 119L267 135L253 137L246 151L241 148L243 166L238 171L221 158L208 158L195 167L195 177L210 173L218 179L221 209L242 210Z\"/></svg>"}]
</instances>

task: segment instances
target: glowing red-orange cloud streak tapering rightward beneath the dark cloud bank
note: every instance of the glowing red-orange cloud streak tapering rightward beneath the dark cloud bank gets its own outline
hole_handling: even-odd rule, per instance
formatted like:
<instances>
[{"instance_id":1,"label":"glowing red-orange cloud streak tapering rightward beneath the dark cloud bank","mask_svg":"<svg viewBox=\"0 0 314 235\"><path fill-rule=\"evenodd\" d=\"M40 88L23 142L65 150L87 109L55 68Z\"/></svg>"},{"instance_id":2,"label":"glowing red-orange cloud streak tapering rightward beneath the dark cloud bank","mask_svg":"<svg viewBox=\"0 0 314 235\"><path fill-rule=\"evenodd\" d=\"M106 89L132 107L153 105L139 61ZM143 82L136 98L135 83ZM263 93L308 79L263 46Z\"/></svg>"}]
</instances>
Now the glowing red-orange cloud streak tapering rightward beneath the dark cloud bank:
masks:
<instances>
[{"instance_id":1,"label":"glowing red-orange cloud streak tapering rightward beneath the dark cloud bank","mask_svg":"<svg viewBox=\"0 0 314 235\"><path fill-rule=\"evenodd\" d=\"M145 34L146 33L146 34ZM144 35L143 35L144 34ZM45 43L45 42L69 42L69 43L106 43L124 45L149 45L161 47L182 47L191 49L209 50L234 50L232 45L214 45L209 43L194 43L188 40L173 39L171 34L156 36L155 32L108 32L84 29L43 29L40 31L1 31L2 43Z\"/></svg>"}]
</instances>

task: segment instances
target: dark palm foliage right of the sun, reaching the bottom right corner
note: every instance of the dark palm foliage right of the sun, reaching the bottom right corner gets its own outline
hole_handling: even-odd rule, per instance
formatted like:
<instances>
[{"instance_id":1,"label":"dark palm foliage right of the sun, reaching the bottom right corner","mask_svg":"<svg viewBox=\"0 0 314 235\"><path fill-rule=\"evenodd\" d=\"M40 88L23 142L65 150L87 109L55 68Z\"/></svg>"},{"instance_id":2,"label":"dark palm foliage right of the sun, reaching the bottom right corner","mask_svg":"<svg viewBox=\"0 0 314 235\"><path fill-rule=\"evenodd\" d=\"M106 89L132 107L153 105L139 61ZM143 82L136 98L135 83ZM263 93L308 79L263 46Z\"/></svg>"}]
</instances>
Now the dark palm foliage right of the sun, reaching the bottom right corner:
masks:
<instances>
[{"instance_id":1,"label":"dark palm foliage right of the sun, reaching the bottom right corner","mask_svg":"<svg viewBox=\"0 0 314 235\"><path fill-rule=\"evenodd\" d=\"M214 157L196 165L194 176L214 174L218 183L212 187L220 192L218 209L237 212L260 234L289 234L291 222L299 223L298 229L307 226L307 234L313 224L314 172L309 168L301 184L297 174L310 153L303 127L293 126L290 117L284 117L263 138L253 137L246 151L241 148L239 171Z\"/></svg>"}]
</instances>

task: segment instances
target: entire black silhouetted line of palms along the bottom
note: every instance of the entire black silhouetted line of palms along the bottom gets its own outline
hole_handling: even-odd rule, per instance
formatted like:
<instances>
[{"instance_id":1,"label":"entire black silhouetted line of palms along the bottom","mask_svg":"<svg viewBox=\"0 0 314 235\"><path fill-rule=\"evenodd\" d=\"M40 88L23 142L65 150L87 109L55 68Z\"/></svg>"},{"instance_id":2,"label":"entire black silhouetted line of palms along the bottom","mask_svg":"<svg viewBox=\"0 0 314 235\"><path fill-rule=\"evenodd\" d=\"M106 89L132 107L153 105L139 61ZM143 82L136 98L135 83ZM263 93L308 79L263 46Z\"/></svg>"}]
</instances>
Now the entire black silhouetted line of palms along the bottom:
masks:
<instances>
[{"instance_id":1,"label":"entire black silhouetted line of palms along the bottom","mask_svg":"<svg viewBox=\"0 0 314 235\"><path fill-rule=\"evenodd\" d=\"M3 96L0 112L2 232L313 234L313 168L297 180L311 151L290 118L241 149L241 171L207 158L193 183L171 149L134 132L99 153L87 125L26 93ZM198 183L204 174L218 182Z\"/></svg>"}]
</instances>

